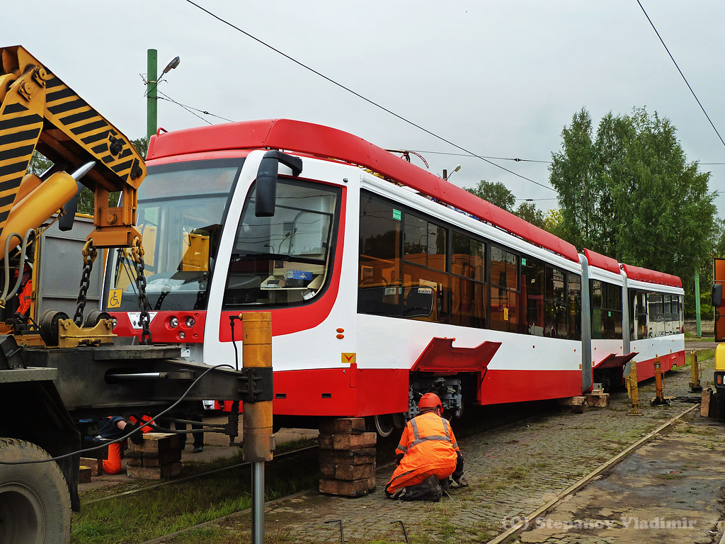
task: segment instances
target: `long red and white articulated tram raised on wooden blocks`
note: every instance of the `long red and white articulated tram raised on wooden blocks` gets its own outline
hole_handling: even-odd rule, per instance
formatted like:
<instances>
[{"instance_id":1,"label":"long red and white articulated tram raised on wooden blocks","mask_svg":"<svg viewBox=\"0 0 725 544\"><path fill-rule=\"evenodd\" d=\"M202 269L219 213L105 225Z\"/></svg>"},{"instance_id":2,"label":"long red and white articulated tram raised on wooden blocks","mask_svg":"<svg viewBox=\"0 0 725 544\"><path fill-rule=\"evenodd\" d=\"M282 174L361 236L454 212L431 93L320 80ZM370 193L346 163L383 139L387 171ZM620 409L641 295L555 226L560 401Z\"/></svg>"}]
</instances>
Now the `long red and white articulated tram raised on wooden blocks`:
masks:
<instances>
[{"instance_id":1,"label":"long red and white articulated tram raised on wooden blocks","mask_svg":"<svg viewBox=\"0 0 725 544\"><path fill-rule=\"evenodd\" d=\"M632 357L642 379L655 355L684 363L679 279L581 255L349 133L292 120L159 131L147 165L154 342L233 361L230 316L270 310L276 423L376 416L385 432L429 390L455 414L580 395ZM115 332L139 336L128 255L107 270Z\"/></svg>"}]
</instances>

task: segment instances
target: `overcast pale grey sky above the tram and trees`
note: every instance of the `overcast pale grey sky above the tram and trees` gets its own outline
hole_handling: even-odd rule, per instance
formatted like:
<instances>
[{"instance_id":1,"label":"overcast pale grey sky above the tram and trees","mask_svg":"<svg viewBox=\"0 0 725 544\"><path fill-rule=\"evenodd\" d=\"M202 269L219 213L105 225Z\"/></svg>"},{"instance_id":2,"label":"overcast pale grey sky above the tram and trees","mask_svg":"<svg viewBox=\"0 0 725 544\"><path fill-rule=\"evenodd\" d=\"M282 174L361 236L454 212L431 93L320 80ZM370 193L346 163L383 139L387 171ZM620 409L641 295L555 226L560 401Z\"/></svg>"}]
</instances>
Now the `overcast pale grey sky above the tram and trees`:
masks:
<instances>
[{"instance_id":1,"label":"overcast pale grey sky above the tram and trees","mask_svg":"<svg viewBox=\"0 0 725 544\"><path fill-rule=\"evenodd\" d=\"M711 120L725 137L725 3L640 0ZM718 139L637 0L277 1L197 0L215 15L476 154L549 161L561 131L586 107L602 115L646 106L677 128L688 160L724 162ZM3 42L21 44L130 138L146 133L146 50L159 90L230 120L291 118L420 151L451 180L502 181L518 199L556 206L532 184L334 86L185 0L6 2ZM225 122L199 114L210 123ZM159 101L159 126L206 124ZM434 153L436 152L436 153ZM414 158L413 161L423 166ZM549 185L548 164L494 160ZM723 194L725 165L711 171ZM521 202L519 200L518 202Z\"/></svg>"}]
</instances>

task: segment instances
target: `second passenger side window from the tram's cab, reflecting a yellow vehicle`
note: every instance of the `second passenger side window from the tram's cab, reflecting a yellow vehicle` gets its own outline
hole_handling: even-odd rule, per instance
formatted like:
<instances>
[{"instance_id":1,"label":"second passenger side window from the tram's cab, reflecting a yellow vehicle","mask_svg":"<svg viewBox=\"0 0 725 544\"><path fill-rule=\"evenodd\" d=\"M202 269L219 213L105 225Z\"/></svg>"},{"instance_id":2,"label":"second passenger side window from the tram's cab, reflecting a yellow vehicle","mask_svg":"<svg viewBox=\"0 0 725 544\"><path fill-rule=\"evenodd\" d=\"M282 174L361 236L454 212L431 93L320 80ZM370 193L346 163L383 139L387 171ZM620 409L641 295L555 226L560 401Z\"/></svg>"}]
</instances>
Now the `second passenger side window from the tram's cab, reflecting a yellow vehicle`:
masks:
<instances>
[{"instance_id":1,"label":"second passenger side window from the tram's cab, reflecting a yellow vehicle","mask_svg":"<svg viewBox=\"0 0 725 544\"><path fill-rule=\"evenodd\" d=\"M402 316L450 322L447 228L405 213Z\"/></svg>"}]
</instances>

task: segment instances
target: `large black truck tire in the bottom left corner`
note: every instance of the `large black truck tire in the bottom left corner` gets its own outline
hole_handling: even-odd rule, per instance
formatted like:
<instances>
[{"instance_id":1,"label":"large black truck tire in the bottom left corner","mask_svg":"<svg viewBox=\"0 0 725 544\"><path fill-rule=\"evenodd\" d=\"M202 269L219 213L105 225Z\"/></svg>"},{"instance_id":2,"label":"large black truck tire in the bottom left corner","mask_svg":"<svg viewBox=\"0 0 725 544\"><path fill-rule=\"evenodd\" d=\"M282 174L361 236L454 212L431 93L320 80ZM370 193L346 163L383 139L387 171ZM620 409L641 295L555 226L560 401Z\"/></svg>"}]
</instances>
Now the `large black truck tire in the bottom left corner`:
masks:
<instances>
[{"instance_id":1,"label":"large black truck tire in the bottom left corner","mask_svg":"<svg viewBox=\"0 0 725 544\"><path fill-rule=\"evenodd\" d=\"M25 440L0 438L0 461L49 459ZM67 544L70 495L54 461L0 465L0 543Z\"/></svg>"}]
</instances>

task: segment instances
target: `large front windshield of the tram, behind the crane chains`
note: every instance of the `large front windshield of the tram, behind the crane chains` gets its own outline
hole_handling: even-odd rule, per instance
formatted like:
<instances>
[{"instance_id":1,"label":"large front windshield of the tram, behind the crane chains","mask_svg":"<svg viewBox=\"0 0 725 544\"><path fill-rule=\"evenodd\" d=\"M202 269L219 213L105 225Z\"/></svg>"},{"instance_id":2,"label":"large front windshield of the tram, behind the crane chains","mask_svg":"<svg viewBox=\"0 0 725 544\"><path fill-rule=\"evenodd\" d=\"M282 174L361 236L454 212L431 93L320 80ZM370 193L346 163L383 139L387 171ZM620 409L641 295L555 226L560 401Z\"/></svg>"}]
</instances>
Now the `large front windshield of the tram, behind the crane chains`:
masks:
<instances>
[{"instance_id":1,"label":"large front windshield of the tram, behind the crane chains","mask_svg":"<svg viewBox=\"0 0 725 544\"><path fill-rule=\"evenodd\" d=\"M146 295L153 310L206 308L230 194L243 159L149 168L138 190ZM109 310L139 309L130 251L109 259ZM120 294L120 296L119 296Z\"/></svg>"}]
</instances>

